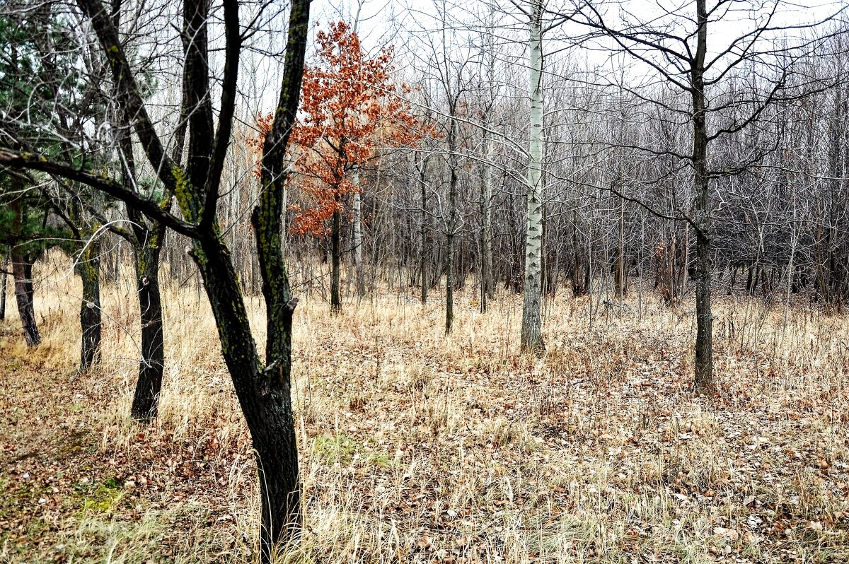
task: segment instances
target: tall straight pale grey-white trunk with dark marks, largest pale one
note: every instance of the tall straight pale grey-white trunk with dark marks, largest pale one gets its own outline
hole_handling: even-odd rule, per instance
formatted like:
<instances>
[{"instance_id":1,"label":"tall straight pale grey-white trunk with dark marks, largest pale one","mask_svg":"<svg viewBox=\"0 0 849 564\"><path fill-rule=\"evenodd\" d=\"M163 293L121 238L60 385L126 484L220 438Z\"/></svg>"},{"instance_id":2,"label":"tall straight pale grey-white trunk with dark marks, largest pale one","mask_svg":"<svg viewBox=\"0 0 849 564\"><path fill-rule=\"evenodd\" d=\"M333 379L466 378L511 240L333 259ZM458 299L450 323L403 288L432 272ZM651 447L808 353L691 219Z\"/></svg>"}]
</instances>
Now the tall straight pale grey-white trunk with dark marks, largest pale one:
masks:
<instances>
[{"instance_id":1,"label":"tall straight pale grey-white trunk with dark marks, largest pale one","mask_svg":"<svg viewBox=\"0 0 849 564\"><path fill-rule=\"evenodd\" d=\"M530 18L531 145L527 173L527 234L525 244L525 291L522 300L521 349L534 353L543 343L543 46L542 0L532 4Z\"/></svg>"}]
</instances>

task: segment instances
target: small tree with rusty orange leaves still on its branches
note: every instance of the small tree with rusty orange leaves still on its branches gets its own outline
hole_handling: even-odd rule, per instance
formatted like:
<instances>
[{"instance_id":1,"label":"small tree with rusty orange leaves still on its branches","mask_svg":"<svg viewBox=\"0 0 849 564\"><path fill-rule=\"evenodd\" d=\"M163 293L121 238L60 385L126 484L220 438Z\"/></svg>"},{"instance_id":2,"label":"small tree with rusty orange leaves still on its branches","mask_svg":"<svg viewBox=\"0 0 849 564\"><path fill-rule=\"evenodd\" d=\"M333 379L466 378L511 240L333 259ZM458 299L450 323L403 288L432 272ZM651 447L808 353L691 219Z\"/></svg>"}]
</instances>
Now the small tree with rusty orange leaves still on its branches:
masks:
<instances>
[{"instance_id":1,"label":"small tree with rusty orange leaves still on its branches","mask_svg":"<svg viewBox=\"0 0 849 564\"><path fill-rule=\"evenodd\" d=\"M338 311L340 236L349 204L357 292L364 293L359 170L388 148L417 144L429 129L404 99L411 89L392 80L391 47L368 57L357 33L344 22L318 31L317 41L316 64L304 68L300 119L291 137L300 148L295 168L309 204L296 208L290 231L330 236L330 309Z\"/></svg>"}]
</instances>

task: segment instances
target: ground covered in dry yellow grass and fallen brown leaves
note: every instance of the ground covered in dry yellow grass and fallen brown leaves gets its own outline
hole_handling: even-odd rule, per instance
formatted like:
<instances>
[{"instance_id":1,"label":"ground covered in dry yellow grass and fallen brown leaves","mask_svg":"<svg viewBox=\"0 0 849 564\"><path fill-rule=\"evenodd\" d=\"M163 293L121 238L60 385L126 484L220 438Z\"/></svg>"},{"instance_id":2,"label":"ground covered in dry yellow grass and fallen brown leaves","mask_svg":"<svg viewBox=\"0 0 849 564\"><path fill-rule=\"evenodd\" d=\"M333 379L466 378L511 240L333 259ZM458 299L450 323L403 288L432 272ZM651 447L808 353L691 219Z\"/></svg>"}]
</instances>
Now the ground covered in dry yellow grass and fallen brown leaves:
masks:
<instances>
[{"instance_id":1,"label":"ground covered in dry yellow grass and fallen brown leaves","mask_svg":"<svg viewBox=\"0 0 849 564\"><path fill-rule=\"evenodd\" d=\"M41 269L44 343L0 322L0 562L254 562L256 466L211 312L166 292L160 418L129 419L132 281L104 287L76 373L77 282ZM64 276L64 277L62 277ZM413 294L413 290L409 290ZM384 293L295 313L306 533L292 562L849 561L849 320L722 297L716 394L691 390L692 304L457 297L444 335ZM257 340L262 311L250 301Z\"/></svg>"}]
</instances>

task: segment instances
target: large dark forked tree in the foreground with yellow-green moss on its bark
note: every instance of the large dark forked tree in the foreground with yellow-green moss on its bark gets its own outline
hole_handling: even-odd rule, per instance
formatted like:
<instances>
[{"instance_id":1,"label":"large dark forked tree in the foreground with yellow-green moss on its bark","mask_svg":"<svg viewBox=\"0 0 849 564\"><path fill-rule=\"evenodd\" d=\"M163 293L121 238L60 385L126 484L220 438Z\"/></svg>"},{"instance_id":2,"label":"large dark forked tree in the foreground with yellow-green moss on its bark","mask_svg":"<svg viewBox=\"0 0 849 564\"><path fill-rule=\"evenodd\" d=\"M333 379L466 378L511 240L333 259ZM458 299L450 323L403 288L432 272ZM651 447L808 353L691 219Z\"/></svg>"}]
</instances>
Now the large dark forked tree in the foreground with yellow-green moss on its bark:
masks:
<instances>
[{"instance_id":1,"label":"large dark forked tree in the foreground with yellow-green moss on its bark","mask_svg":"<svg viewBox=\"0 0 849 564\"><path fill-rule=\"evenodd\" d=\"M294 543L301 531L301 484L291 409L291 331L297 304L290 295L289 277L281 248L284 162L290 131L295 123L306 51L310 0L293 0L286 44L284 75L276 114L263 147L261 193L252 223L265 296L266 359L261 362L250 330L245 301L221 227L216 220L222 169L231 141L238 85L242 30L239 2L223 0L222 80L218 85L217 126L212 127L209 46L206 25L208 0L184 0L187 42L183 70L188 111L187 165L181 167L166 153L150 119L136 75L127 60L110 13L99 0L77 0L93 31L115 83L115 94L132 130L153 165L166 193L177 197L182 217L172 215L163 202L127 189L116 179L93 173L85 166L58 163L47 156L0 150L0 162L18 168L42 170L121 198L128 207L190 237L191 254L203 278L216 319L222 355L245 415L256 453L262 522L261 562L272 562L279 550Z\"/></svg>"}]
</instances>

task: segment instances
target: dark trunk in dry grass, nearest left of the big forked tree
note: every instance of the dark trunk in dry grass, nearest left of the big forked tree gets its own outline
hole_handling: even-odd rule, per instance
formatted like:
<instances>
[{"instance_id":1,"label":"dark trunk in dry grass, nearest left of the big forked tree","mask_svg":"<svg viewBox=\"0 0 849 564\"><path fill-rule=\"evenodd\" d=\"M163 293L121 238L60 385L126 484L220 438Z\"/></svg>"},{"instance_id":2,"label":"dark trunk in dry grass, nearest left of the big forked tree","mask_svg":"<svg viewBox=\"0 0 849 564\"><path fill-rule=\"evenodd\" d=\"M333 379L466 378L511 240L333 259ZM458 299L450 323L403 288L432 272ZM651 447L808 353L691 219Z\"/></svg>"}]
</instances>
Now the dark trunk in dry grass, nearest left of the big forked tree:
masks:
<instances>
[{"instance_id":1,"label":"dark trunk in dry grass, nearest left of the big forked tree","mask_svg":"<svg viewBox=\"0 0 849 564\"><path fill-rule=\"evenodd\" d=\"M141 237L139 237L141 236ZM134 249L138 307L142 321L142 359L138 364L136 393L132 397L132 418L150 422L159 413L162 372L165 369L165 343L160 296L160 250L165 244L166 229L157 225L153 231L139 228Z\"/></svg>"}]
</instances>

